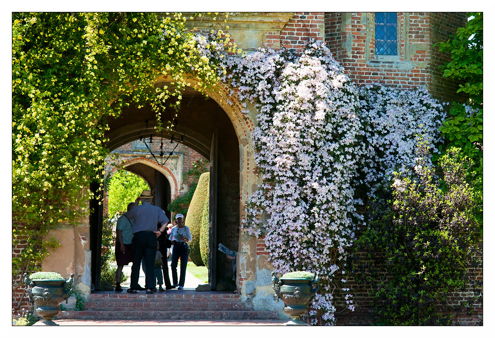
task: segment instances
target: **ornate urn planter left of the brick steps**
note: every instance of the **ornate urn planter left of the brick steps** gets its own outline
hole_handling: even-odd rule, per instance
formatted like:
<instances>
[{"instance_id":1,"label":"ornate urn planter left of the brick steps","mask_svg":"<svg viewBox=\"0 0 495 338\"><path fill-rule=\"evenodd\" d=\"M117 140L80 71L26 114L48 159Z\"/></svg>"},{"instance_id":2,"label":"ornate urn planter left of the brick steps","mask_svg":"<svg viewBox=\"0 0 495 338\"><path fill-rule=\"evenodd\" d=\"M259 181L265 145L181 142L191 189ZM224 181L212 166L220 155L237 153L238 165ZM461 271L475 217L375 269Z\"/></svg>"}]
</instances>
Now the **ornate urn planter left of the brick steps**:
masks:
<instances>
[{"instance_id":1,"label":"ornate urn planter left of the brick steps","mask_svg":"<svg viewBox=\"0 0 495 338\"><path fill-rule=\"evenodd\" d=\"M29 298L36 303L36 313L43 318L43 324L57 325L52 319L60 314L62 301L67 302L73 279L74 274L65 281L55 272L36 272L29 277L24 274L24 284Z\"/></svg>"}]
</instances>

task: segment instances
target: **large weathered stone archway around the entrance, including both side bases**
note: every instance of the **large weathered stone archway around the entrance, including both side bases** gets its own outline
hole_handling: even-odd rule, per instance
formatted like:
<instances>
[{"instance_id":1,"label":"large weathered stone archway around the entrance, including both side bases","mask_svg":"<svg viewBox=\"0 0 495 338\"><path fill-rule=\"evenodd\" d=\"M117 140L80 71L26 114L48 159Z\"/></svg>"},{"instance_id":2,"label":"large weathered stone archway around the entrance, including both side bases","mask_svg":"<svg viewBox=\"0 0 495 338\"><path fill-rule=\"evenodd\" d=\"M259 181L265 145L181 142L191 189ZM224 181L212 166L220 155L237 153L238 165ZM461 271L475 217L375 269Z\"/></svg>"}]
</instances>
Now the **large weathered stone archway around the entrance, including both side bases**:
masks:
<instances>
[{"instance_id":1,"label":"large weathered stone archway around the entrance, including both side bases","mask_svg":"<svg viewBox=\"0 0 495 338\"><path fill-rule=\"evenodd\" d=\"M166 81L166 78L159 78L158 83L160 81ZM191 86L195 84L196 82L191 80ZM244 116L235 91L223 84L207 92L207 100L192 88L187 91L188 93L183 96L185 103L182 120L179 115L179 124L184 127L188 135L184 144L209 158L212 130L215 127L220 131L219 184L223 187L223 191L219 192L219 201L223 204L220 205L219 210L224 214L220 215L219 222L223 222L221 225L223 230L220 233L224 237L219 239L219 242L238 251L237 289L243 299L252 299L258 294L265 294L267 295L265 298L270 298L273 293L269 286L270 281L265 281L266 278L263 277L268 267L266 252L262 249L263 241L240 231L240 224L244 218L244 204L247 197L257 189L260 183L254 163L251 137L256 111L251 107L248 114ZM153 117L154 114L146 107L139 110L130 107L123 111L118 119L109 121L110 130L106 136L110 141L106 146L113 149L138 140L139 132L145 129L144 121ZM153 135L161 136L156 133ZM171 133L164 133L163 137L170 138ZM146 160L142 159L142 161ZM163 168L156 169L159 169L165 176L170 174ZM99 208L98 202L91 206L95 210ZM62 252L63 256L67 257L67 262L62 263L64 266L61 267L60 262L50 259L54 255L44 262L44 268L52 271L74 271L76 285L80 284L80 290L87 294L90 292L92 279L91 257L95 255L95 252L91 250L93 245L90 245L90 242L98 241L98 233L92 234L92 229L99 227L98 218L101 219L101 217L101 213L96 212L92 217L82 220L79 227L56 230L54 235L61 239L62 243L57 253ZM219 257L221 260L222 255ZM220 265L222 264L223 262L220 262ZM56 267L53 268L54 266ZM225 262L224 266L225 270L229 270L231 274L230 262Z\"/></svg>"}]
</instances>

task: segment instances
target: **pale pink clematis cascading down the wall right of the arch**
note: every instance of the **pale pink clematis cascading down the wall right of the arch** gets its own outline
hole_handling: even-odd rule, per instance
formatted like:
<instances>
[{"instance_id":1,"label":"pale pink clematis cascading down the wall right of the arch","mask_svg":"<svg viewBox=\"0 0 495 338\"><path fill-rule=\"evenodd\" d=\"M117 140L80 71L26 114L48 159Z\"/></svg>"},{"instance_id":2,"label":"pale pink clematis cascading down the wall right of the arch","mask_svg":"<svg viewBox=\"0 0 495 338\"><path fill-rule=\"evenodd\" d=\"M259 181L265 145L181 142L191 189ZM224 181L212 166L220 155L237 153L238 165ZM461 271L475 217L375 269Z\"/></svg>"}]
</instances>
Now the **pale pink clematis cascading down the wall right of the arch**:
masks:
<instances>
[{"instance_id":1,"label":"pale pink clematis cascading down the wall right of the arch","mask_svg":"<svg viewBox=\"0 0 495 338\"><path fill-rule=\"evenodd\" d=\"M260 48L224 62L224 81L239 89L245 108L258 110L253 145L262 183L242 228L264 236L277 272L320 277L310 315L320 310L334 324L336 287L348 309L355 306L345 262L364 224L356 187L373 197L397 167L413 164L417 134L438 142L442 105L424 90L355 86L321 43L300 54Z\"/></svg>"}]
</instances>

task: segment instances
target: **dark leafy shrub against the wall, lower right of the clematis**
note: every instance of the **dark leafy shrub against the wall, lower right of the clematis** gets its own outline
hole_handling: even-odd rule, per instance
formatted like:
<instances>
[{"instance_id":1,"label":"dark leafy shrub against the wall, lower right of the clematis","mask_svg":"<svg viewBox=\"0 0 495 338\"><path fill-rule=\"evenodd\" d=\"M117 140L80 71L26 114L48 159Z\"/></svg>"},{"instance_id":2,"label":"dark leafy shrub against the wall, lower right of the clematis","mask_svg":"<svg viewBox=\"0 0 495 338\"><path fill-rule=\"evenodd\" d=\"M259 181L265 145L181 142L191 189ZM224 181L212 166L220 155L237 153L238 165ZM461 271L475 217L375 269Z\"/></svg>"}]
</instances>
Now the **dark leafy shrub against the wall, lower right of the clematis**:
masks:
<instances>
[{"instance_id":1,"label":"dark leafy shrub against the wall, lower right of the clematis","mask_svg":"<svg viewBox=\"0 0 495 338\"><path fill-rule=\"evenodd\" d=\"M475 264L481 199L467 181L465 164L472 161L448 149L439 162L441 181L422 161L426 153L420 147L416 176L396 174L389 211L357 245L365 259L355 266L356 280L371 287L385 325L448 325L446 295L466 285Z\"/></svg>"}]
</instances>

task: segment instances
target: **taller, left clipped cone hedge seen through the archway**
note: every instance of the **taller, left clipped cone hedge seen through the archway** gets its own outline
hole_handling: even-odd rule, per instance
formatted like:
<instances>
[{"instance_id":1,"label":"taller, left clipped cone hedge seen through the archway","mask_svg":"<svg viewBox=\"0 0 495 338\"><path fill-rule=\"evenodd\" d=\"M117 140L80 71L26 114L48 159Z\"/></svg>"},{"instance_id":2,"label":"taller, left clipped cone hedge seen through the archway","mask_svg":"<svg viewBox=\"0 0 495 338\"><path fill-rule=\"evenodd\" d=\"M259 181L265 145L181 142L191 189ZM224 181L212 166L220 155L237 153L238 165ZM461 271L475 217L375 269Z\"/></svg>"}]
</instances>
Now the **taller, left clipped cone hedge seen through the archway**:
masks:
<instances>
[{"instance_id":1,"label":"taller, left clipped cone hedge seen through the archway","mask_svg":"<svg viewBox=\"0 0 495 338\"><path fill-rule=\"evenodd\" d=\"M199 177L198 186L194 192L191 203L189 204L188 213L186 215L186 225L191 230L192 241L189 244L191 252L189 258L196 266L203 266L204 262L201 257L201 251L199 248L200 241L200 229L203 222L203 210L208 207L209 203L209 173L204 173ZM206 257L206 263L208 259Z\"/></svg>"}]
</instances>

